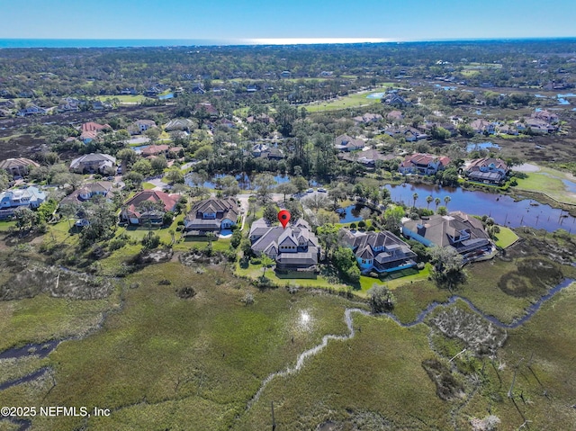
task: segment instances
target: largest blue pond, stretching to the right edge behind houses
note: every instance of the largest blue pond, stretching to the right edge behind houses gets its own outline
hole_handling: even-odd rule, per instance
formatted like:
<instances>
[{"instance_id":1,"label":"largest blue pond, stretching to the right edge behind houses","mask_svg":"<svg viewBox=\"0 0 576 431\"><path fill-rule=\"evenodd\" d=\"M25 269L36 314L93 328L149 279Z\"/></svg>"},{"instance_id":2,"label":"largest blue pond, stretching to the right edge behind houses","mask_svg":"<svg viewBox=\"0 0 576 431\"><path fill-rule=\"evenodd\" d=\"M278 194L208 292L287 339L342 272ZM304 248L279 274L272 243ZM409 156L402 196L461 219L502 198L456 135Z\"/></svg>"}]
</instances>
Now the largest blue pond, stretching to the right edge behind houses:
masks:
<instances>
[{"instance_id":1,"label":"largest blue pond, stretching to the right edge behind houses","mask_svg":"<svg viewBox=\"0 0 576 431\"><path fill-rule=\"evenodd\" d=\"M531 199L515 202L510 196L499 193L472 192L461 188L441 187L429 184L401 184L385 187L390 190L393 202L404 202L412 205L412 195L418 193L416 206L426 207L427 196L440 198L440 205L445 205L444 198L450 196L448 211L464 211L474 215L488 215L502 226L518 228L528 226L536 229L546 229L553 232L556 229L566 229L572 232L576 229L574 219L566 211L552 208ZM436 209L434 202L430 210Z\"/></svg>"}]
</instances>

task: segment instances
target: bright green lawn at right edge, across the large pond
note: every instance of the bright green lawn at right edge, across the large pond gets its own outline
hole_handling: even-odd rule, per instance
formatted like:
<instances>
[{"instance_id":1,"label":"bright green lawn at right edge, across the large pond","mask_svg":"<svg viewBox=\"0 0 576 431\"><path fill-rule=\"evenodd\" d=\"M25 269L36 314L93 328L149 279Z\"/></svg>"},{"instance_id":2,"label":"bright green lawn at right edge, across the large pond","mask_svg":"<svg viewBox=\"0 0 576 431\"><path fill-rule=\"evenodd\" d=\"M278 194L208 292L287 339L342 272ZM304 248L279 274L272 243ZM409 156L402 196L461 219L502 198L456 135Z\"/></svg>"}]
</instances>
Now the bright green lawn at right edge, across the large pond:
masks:
<instances>
[{"instance_id":1,"label":"bright green lawn at right edge, across the large pond","mask_svg":"<svg viewBox=\"0 0 576 431\"><path fill-rule=\"evenodd\" d=\"M576 204L576 193L568 191L563 180L569 180L568 174L552 169L541 167L539 172L527 173L527 178L518 178L516 190L545 193L558 202Z\"/></svg>"}]
</instances>

